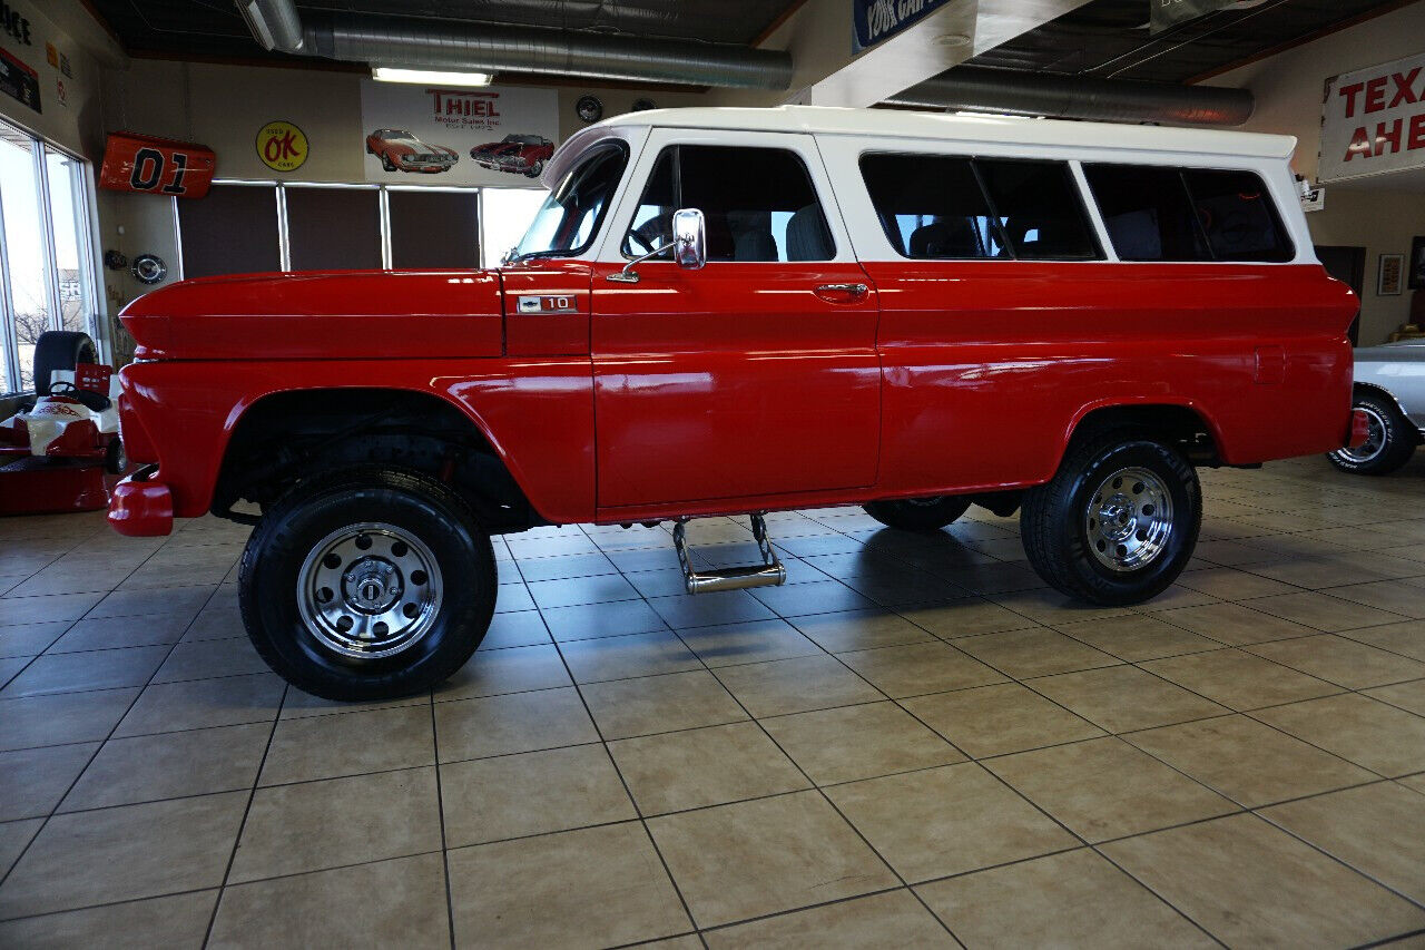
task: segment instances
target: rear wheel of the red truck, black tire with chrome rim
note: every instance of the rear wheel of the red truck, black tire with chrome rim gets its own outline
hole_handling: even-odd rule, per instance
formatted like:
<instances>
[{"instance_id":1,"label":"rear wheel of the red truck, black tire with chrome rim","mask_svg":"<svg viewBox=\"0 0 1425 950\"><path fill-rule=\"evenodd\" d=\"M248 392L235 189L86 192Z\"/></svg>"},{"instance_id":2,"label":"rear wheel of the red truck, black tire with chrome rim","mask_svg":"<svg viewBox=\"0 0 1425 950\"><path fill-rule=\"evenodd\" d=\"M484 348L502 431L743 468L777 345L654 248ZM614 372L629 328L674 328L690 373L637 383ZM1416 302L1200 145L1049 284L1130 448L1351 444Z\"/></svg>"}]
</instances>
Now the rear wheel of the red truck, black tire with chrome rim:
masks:
<instances>
[{"instance_id":1,"label":"rear wheel of the red truck, black tire with chrome rim","mask_svg":"<svg viewBox=\"0 0 1425 950\"><path fill-rule=\"evenodd\" d=\"M1120 484L1113 481L1120 472L1147 475ZM1149 492L1140 494L1144 482ZM1144 501L1154 491L1170 508ZM1112 521L1103 518L1107 505L1114 506ZM1133 548L1090 538L1090 525L1100 523L1129 532L1124 541ZM1193 465L1176 449L1124 429L1076 438L1053 479L1025 492L1020 512L1025 552L1039 576L1060 593L1103 606L1143 603L1167 589L1191 559L1201 526ZM1120 556L1117 566L1106 563Z\"/></svg>"}]
</instances>

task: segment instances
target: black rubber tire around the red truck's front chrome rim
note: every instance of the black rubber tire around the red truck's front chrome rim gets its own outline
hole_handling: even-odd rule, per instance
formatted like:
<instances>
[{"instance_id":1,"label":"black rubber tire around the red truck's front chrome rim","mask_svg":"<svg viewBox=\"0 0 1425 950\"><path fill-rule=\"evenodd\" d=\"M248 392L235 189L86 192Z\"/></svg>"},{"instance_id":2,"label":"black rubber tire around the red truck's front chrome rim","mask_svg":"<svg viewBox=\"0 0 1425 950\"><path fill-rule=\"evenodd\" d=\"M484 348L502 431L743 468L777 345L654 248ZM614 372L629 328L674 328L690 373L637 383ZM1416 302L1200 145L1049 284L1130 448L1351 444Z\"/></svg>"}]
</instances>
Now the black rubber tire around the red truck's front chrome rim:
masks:
<instances>
[{"instance_id":1,"label":"black rubber tire around the red truck's front chrome rim","mask_svg":"<svg viewBox=\"0 0 1425 950\"><path fill-rule=\"evenodd\" d=\"M439 579L418 572L402 578L412 591L437 583L439 598L425 632L390 656L342 652L299 605L309 555L343 529L366 533L359 526L368 523L415 538L439 568ZM359 536L355 543L361 546ZM356 569L356 562L341 569ZM268 666L315 696L372 702L423 692L460 669L484 639L499 581L490 538L459 496L425 475L370 466L315 475L274 505L242 552L238 583L244 626ZM349 603L345 583L343 576L343 605Z\"/></svg>"}]
</instances>

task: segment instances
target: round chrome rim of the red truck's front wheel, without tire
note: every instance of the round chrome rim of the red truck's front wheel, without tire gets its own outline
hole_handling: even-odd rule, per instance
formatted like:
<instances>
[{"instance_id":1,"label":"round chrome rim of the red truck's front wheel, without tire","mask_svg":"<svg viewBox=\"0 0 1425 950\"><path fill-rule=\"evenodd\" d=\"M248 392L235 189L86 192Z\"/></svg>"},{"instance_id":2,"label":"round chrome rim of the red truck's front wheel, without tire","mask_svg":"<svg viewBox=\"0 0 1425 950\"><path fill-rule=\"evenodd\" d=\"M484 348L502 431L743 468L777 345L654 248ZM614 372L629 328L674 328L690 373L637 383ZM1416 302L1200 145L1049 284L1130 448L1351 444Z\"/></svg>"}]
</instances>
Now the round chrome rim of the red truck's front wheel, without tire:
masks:
<instances>
[{"instance_id":1,"label":"round chrome rim of the red truck's front wheel, without tire","mask_svg":"<svg viewBox=\"0 0 1425 950\"><path fill-rule=\"evenodd\" d=\"M440 566L405 528L363 522L322 538L298 572L296 603L321 643L359 659L393 656L440 612Z\"/></svg>"}]
</instances>

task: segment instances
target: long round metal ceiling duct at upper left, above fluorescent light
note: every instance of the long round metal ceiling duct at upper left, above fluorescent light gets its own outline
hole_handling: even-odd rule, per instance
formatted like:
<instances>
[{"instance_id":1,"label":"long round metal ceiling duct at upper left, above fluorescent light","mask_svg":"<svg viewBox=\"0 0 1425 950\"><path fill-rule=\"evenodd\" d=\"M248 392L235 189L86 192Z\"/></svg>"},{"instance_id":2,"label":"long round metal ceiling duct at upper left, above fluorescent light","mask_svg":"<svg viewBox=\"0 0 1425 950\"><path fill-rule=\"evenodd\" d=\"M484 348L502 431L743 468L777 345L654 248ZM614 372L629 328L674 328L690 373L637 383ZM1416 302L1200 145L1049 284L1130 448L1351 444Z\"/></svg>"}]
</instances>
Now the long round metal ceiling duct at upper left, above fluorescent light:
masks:
<instances>
[{"instance_id":1,"label":"long round metal ceiling duct at upper left, above fluorescent light","mask_svg":"<svg viewBox=\"0 0 1425 950\"><path fill-rule=\"evenodd\" d=\"M237 3L264 48L349 63L771 90L792 78L784 50L356 14L304 26L292 0Z\"/></svg>"}]
</instances>

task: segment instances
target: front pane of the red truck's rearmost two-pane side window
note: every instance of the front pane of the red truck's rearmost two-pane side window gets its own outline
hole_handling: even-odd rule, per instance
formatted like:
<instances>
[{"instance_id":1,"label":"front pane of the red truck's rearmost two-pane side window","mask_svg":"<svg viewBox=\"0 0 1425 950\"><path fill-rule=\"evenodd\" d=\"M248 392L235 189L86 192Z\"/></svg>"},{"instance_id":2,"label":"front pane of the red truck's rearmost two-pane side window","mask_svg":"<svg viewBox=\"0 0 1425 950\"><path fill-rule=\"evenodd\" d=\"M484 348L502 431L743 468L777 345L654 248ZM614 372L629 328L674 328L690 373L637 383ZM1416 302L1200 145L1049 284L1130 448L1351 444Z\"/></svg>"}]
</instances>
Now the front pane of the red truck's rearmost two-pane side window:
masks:
<instances>
[{"instance_id":1,"label":"front pane of the red truck's rearmost two-pane side window","mask_svg":"<svg viewBox=\"0 0 1425 950\"><path fill-rule=\"evenodd\" d=\"M1178 168L1086 164L1113 250L1124 261L1210 261Z\"/></svg>"}]
</instances>

